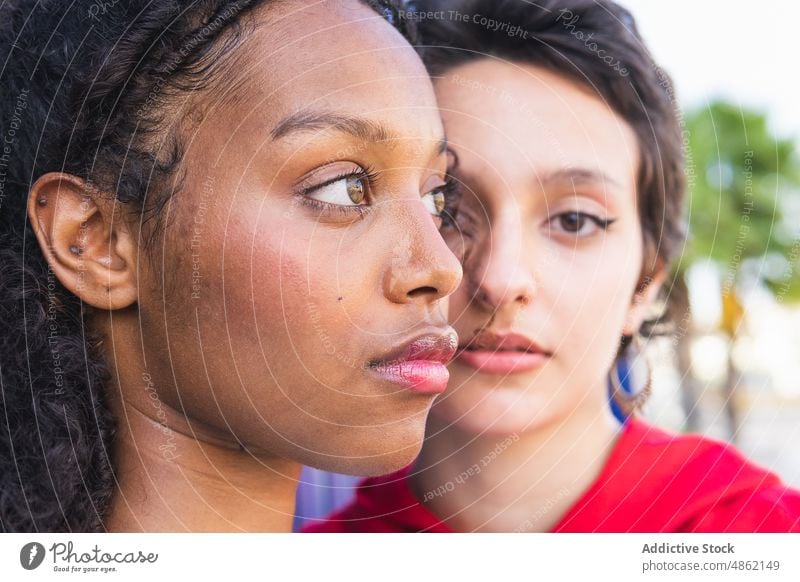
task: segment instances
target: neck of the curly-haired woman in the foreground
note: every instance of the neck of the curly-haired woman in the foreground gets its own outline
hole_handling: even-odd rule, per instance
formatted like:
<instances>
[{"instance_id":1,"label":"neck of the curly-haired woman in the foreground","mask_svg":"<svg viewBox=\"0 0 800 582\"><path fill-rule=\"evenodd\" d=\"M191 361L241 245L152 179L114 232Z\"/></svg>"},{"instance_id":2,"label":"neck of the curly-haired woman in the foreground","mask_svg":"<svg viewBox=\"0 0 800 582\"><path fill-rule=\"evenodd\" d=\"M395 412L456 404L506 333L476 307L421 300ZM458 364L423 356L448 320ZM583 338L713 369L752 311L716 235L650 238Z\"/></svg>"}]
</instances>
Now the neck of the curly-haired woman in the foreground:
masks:
<instances>
[{"instance_id":1,"label":"neck of the curly-haired woman in the foreground","mask_svg":"<svg viewBox=\"0 0 800 582\"><path fill-rule=\"evenodd\" d=\"M297 463L248 451L164 403L149 404L112 403L117 488L108 531L291 531Z\"/></svg>"}]
</instances>

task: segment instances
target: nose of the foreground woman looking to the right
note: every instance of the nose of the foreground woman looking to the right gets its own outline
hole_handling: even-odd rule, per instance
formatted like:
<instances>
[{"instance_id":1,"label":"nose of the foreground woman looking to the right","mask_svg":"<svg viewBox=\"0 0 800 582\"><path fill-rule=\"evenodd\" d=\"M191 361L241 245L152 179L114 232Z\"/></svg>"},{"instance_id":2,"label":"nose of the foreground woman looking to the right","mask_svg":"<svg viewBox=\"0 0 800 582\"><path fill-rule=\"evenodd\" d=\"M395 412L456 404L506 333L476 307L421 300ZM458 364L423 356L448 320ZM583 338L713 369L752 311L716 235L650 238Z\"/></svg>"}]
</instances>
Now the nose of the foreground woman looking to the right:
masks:
<instances>
[{"instance_id":1,"label":"nose of the foreground woman looking to the right","mask_svg":"<svg viewBox=\"0 0 800 582\"><path fill-rule=\"evenodd\" d=\"M430 213L419 201L405 205L408 221L392 245L384 293L394 303L433 303L461 283L461 263L444 242ZM397 216L395 215L395 220Z\"/></svg>"}]
</instances>

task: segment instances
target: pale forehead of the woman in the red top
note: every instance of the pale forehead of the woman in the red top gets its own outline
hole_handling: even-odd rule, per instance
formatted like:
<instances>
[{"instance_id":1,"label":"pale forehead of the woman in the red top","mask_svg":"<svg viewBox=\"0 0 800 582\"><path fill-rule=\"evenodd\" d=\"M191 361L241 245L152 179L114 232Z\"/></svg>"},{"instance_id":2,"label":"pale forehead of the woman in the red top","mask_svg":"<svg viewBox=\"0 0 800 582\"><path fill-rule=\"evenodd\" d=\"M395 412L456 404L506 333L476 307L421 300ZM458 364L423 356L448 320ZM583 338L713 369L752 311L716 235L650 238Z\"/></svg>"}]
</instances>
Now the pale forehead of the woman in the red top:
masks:
<instances>
[{"instance_id":1,"label":"pale forehead of the woman in the red top","mask_svg":"<svg viewBox=\"0 0 800 582\"><path fill-rule=\"evenodd\" d=\"M462 160L508 179L578 167L633 187L639 159L633 130L601 98L565 77L481 59L448 71L436 92Z\"/></svg>"}]
</instances>

